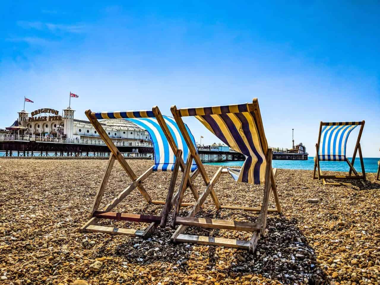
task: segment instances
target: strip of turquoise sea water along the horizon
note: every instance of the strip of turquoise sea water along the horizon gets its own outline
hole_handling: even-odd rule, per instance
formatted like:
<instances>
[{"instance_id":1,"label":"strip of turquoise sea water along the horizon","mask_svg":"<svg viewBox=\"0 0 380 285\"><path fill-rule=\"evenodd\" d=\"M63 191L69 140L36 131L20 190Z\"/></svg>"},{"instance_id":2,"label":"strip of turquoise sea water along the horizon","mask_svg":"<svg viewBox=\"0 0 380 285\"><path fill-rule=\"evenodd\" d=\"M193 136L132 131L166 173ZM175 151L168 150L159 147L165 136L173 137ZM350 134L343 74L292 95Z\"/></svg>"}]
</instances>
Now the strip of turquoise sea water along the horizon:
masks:
<instances>
[{"instance_id":1,"label":"strip of turquoise sea water along the horizon","mask_svg":"<svg viewBox=\"0 0 380 285\"><path fill-rule=\"evenodd\" d=\"M351 158L348 158L351 161ZM377 172L377 161L380 158L367 157L363 158L364 169L366 173L376 173ZM242 166L243 161L228 161L228 162L205 162L208 165L223 165L223 166ZM344 161L321 161L321 170L324 171L346 171L348 172L350 168ZM287 169L314 169L314 157L309 157L308 160L273 160L272 167L277 168L287 168ZM361 172L360 160L358 157L355 159L354 167L356 171Z\"/></svg>"}]
</instances>

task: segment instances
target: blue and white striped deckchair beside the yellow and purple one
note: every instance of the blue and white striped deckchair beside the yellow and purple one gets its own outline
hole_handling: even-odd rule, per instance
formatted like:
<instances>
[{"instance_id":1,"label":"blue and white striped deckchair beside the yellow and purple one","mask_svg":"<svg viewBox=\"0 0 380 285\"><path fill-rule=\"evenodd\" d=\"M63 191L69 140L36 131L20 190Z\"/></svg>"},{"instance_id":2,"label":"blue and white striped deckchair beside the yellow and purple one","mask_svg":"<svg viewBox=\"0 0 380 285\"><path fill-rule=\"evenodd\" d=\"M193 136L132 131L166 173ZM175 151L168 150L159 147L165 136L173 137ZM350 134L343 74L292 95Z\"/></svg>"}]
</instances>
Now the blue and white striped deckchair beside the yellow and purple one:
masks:
<instances>
[{"instance_id":1,"label":"blue and white striped deckchair beside the yellow and purple one","mask_svg":"<svg viewBox=\"0 0 380 285\"><path fill-rule=\"evenodd\" d=\"M189 158L189 149L175 120L171 117L162 116L157 106L153 107L152 111L91 112L91 110L87 110L86 116L98 131L98 134L101 136L101 138L106 142L108 148L112 152L112 155L110 156L105 175L103 176L103 181L101 182L101 186L98 190L98 194L95 197L95 203L91 209L90 220L82 227L82 231L103 232L109 234L128 234L132 236L147 237L152 234L158 223L160 223L161 228L165 227L171 205L174 203L174 199L177 199L177 196L180 193L178 192L174 199L172 199L179 169L182 171L193 171L190 177L187 175L185 179L182 178L182 181L184 182L186 188L191 188L195 199L198 199L198 192L195 190L192 184L192 180L195 179L199 173L199 171L196 170L197 165L192 162L192 159ZM120 154L119 150L114 145L112 140L109 138L106 131L98 122L98 119L125 119L135 123L142 129L147 130L153 142L155 160L154 165L145 171L141 176L137 177L131 167L128 165L127 161L125 161L124 157ZM195 140L192 133L187 126L185 126L185 129L187 136L191 138L192 146L196 149ZM108 204L103 211L98 211L100 199L103 195L103 191L105 185L107 184L108 176L111 172L115 159L120 162L133 182L128 188L123 190L117 198L112 200L112 202ZM142 182L155 171L172 172L169 191L166 195L165 201L152 200L142 185ZM125 196L130 194L134 188L138 188L148 203L164 204L165 207L161 215L136 215L110 212L118 203L120 203L120 201L122 201L123 198L125 198ZM184 205L188 206L189 204L184 203ZM104 226L97 226L96 223L99 218L150 223L150 226L145 231L109 228Z\"/></svg>"}]
</instances>

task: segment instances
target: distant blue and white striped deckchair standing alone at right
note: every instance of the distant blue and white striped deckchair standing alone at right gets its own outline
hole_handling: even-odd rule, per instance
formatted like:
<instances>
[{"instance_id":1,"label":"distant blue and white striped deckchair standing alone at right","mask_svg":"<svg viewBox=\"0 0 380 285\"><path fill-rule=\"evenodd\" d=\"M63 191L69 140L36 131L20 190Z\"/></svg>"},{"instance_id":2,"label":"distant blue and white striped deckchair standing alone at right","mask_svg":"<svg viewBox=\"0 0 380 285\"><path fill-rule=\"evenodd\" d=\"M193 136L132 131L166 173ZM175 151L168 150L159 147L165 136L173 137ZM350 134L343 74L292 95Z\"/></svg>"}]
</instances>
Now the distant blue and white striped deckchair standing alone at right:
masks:
<instances>
[{"instance_id":1,"label":"distant blue and white striped deckchair standing alone at right","mask_svg":"<svg viewBox=\"0 0 380 285\"><path fill-rule=\"evenodd\" d=\"M346 157L346 146L348 136L357 126L360 126L358 139L353 154L352 161L350 162ZM363 157L361 155L360 138L364 128L364 120L361 122L321 122L320 131L318 135L318 142L316 144L317 155L314 162L313 179L322 179L323 184L328 185L342 185L342 183L326 182L326 179L364 179L366 180L366 173L364 171ZM359 157L362 166L362 176L359 176L353 164L355 162L356 152L359 150ZM334 176L322 175L320 171L320 161L346 161L350 167L349 176ZM318 176L315 176L318 169ZM351 172L355 176L351 176Z\"/></svg>"}]
</instances>

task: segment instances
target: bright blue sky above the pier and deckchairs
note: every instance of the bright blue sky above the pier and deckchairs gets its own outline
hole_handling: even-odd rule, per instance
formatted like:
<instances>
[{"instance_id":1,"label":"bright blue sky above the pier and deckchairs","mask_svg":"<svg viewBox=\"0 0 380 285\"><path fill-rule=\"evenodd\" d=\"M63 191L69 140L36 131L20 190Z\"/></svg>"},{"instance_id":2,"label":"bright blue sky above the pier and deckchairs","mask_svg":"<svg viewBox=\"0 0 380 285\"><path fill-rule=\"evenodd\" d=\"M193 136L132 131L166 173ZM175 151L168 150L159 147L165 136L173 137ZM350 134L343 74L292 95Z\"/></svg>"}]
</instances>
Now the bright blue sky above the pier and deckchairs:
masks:
<instances>
[{"instance_id":1,"label":"bright blue sky above the pier and deckchairs","mask_svg":"<svg viewBox=\"0 0 380 285\"><path fill-rule=\"evenodd\" d=\"M78 119L257 97L270 146L291 147L294 128L314 155L321 120L366 120L363 155L379 157L380 4L357 3L2 3L0 127L24 95L27 111L62 110L74 92Z\"/></svg>"}]
</instances>

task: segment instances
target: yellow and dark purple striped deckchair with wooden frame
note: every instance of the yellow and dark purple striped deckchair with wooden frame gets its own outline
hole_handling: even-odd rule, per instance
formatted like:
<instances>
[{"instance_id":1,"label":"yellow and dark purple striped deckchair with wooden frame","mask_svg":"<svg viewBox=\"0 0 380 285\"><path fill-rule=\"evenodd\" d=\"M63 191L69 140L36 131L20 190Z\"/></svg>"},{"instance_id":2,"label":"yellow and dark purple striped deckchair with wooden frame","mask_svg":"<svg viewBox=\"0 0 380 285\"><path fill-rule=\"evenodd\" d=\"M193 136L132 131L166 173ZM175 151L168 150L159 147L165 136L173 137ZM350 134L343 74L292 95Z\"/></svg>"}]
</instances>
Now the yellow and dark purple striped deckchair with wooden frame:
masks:
<instances>
[{"instance_id":1,"label":"yellow and dark purple striped deckchair with wooden frame","mask_svg":"<svg viewBox=\"0 0 380 285\"><path fill-rule=\"evenodd\" d=\"M252 103L239 105L214 106L201 108L177 109L172 106L171 112L184 136L186 144L190 150L191 157L195 160L198 169L206 184L206 190L199 197L193 209L187 217L177 217L180 209L181 197L176 201L172 215L171 225L179 225L171 239L174 242L193 242L201 244L222 245L227 247L239 247L255 251L260 234L265 234L266 217L269 212L281 212L277 188L275 185L275 172L272 171L272 149L268 148L265 137L263 122L261 120L260 108L257 99ZM192 145L190 136L187 135L182 117L194 116L203 125L216 135L225 144L237 152L245 155L246 159L241 169L223 169L220 167L212 179L207 175L206 170ZM221 174L230 173L237 182L249 184L264 184L263 204L259 208L243 206L227 206L219 203L214 191ZM184 176L186 173L184 173ZM273 190L276 208L268 209L269 196ZM184 188L179 190L183 193ZM204 203L208 195L211 195L217 209L243 209L245 211L260 212L255 223L237 222L216 219L195 218L199 208ZM183 234L188 226L200 226L206 228L221 228L225 230L238 230L253 232L250 241L236 239L225 239L219 237L191 236Z\"/></svg>"}]
</instances>

